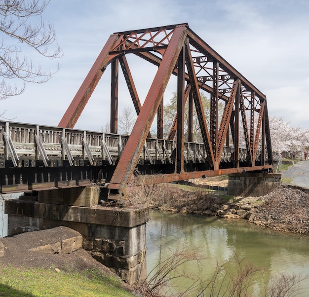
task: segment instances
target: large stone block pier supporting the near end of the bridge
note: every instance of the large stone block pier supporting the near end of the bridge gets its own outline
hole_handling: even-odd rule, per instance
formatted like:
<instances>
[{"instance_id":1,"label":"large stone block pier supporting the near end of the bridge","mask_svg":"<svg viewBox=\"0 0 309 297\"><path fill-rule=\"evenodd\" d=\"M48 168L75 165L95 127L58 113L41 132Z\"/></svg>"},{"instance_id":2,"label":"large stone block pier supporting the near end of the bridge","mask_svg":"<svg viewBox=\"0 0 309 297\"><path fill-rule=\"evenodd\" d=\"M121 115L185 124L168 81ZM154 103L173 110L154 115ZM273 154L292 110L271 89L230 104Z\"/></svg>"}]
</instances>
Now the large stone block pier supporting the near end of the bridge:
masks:
<instances>
[{"instance_id":1,"label":"large stone block pier supporting the near end of the bridge","mask_svg":"<svg viewBox=\"0 0 309 297\"><path fill-rule=\"evenodd\" d=\"M86 187L46 190L38 192L38 196L24 194L19 199L7 200L8 235L70 227L83 236L83 248L95 259L125 282L140 284L147 277L149 210L100 206L98 197L98 189Z\"/></svg>"}]
</instances>

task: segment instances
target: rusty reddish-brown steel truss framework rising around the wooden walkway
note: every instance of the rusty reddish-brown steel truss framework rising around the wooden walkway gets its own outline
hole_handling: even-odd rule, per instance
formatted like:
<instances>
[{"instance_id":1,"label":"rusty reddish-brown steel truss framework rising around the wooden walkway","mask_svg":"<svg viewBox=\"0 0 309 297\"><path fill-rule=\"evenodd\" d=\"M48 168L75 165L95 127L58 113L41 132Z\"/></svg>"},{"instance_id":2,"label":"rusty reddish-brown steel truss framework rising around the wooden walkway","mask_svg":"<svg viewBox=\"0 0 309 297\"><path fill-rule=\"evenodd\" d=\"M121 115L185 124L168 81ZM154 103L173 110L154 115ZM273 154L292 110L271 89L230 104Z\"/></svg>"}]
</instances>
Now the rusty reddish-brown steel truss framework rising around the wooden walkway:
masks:
<instances>
[{"instance_id":1,"label":"rusty reddish-brown steel truss framework rising around the wooden walkway","mask_svg":"<svg viewBox=\"0 0 309 297\"><path fill-rule=\"evenodd\" d=\"M126 60L128 54L135 54L158 67L143 106ZM128 186L139 184L271 170L272 150L266 96L198 37L188 24L112 34L59 127L74 127L109 64L112 73L111 133L117 132L119 64L138 114L110 181L111 194L124 195ZM153 175L141 177L136 174L139 172L138 160L156 115L157 138L163 138L163 93L172 74L177 76L177 116L168 136L168 140L176 136L173 161L154 170ZM200 90L210 95L209 124ZM188 98L189 127L186 141L192 142L192 112L195 109L206 150L206 159L198 166L187 164L184 160L184 106ZM222 115L218 112L219 102L225 106ZM239 157L240 130L243 131L247 149L245 161ZM228 165L222 163L224 146L233 147ZM258 149L265 153L257 157Z\"/></svg>"}]
</instances>

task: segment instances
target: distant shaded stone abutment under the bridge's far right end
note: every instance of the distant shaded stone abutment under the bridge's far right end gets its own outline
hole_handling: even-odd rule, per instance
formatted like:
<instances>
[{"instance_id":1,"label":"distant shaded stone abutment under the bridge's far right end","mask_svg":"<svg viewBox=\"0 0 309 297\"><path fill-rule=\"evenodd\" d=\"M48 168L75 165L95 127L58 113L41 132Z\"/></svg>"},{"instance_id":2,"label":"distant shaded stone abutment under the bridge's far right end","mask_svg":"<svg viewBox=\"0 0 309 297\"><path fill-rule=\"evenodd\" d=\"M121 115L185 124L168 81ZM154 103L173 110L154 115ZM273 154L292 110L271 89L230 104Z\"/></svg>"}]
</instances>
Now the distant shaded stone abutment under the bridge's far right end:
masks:
<instances>
[{"instance_id":1,"label":"distant shaded stone abutment under the bridge's far right end","mask_svg":"<svg viewBox=\"0 0 309 297\"><path fill-rule=\"evenodd\" d=\"M281 173L229 174L229 194L232 196L263 196L281 183Z\"/></svg>"}]
</instances>

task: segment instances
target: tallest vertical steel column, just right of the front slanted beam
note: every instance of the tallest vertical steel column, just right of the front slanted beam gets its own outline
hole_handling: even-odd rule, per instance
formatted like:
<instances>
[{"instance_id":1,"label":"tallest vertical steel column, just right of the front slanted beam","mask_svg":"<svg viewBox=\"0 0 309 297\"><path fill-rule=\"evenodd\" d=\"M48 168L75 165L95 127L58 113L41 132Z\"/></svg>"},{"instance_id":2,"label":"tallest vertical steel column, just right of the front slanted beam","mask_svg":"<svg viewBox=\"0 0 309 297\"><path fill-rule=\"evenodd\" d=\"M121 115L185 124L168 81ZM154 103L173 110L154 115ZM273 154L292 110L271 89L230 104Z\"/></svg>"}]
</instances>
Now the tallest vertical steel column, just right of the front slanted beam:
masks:
<instances>
[{"instance_id":1,"label":"tallest vertical steel column, just right of the front slanted beam","mask_svg":"<svg viewBox=\"0 0 309 297\"><path fill-rule=\"evenodd\" d=\"M184 90L185 90L185 56L186 46L178 57L177 75L177 146L176 146L176 173L184 171Z\"/></svg>"}]
</instances>

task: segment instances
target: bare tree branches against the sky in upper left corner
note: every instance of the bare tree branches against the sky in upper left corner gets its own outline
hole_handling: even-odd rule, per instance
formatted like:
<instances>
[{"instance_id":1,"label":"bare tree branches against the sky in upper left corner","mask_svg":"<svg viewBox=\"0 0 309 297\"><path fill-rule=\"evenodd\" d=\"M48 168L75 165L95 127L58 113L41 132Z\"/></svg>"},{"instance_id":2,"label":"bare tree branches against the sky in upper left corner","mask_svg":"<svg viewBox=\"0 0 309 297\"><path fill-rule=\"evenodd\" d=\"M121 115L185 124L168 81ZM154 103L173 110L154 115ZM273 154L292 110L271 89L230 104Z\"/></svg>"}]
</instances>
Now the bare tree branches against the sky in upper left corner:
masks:
<instances>
[{"instance_id":1,"label":"bare tree branches against the sky in upper left corner","mask_svg":"<svg viewBox=\"0 0 309 297\"><path fill-rule=\"evenodd\" d=\"M32 57L33 54L49 59L62 56L54 27L42 20L49 1L0 1L0 99L19 95L25 90L26 82L46 82L53 74L50 69L35 65L29 56L22 54L27 52L30 55L30 49ZM50 45L53 45L52 50ZM57 64L55 72L58 69Z\"/></svg>"}]
</instances>

